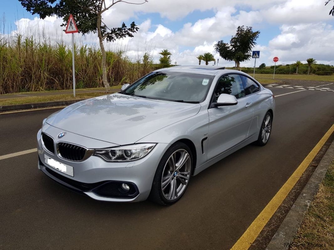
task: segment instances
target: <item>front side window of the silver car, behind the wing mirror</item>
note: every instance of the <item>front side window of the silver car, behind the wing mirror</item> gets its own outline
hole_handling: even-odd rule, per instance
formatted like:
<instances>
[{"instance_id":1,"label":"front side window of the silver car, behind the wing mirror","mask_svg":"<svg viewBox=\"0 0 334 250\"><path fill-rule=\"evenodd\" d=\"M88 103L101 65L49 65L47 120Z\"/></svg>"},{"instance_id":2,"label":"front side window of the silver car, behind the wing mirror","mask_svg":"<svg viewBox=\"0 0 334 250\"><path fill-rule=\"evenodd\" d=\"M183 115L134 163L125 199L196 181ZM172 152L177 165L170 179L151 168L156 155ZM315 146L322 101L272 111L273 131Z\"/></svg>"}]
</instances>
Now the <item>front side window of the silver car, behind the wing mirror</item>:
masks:
<instances>
[{"instance_id":1,"label":"front side window of the silver car, behind the wing mirror","mask_svg":"<svg viewBox=\"0 0 334 250\"><path fill-rule=\"evenodd\" d=\"M220 94L234 95L236 99L245 96L242 80L240 75L226 75L222 76L216 86L214 95L216 100Z\"/></svg>"}]
</instances>

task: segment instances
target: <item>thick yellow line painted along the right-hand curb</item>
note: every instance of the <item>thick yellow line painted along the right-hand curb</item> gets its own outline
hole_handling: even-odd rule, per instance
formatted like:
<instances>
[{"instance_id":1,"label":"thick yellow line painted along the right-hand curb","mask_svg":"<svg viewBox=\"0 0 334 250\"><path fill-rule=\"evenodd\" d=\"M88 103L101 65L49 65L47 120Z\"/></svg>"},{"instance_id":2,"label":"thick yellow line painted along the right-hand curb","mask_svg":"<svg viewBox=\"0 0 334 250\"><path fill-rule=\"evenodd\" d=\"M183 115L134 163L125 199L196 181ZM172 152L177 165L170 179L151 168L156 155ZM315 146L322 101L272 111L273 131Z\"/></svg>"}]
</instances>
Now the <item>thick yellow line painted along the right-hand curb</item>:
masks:
<instances>
[{"instance_id":1,"label":"thick yellow line painted along the right-hand curb","mask_svg":"<svg viewBox=\"0 0 334 250\"><path fill-rule=\"evenodd\" d=\"M313 158L317 155L319 150L331 136L334 131L334 124L326 132L326 134L321 138L317 145L312 149L312 151L306 156L303 162L299 165L296 171L290 176L287 182L281 187L277 194L272 198L272 200L267 204L267 206L262 210L258 217L252 222L252 224L247 228L243 235L234 244L231 250L246 250L248 249L254 240L258 237L261 230L274 215L277 208L282 204L286 196L289 194L291 189L295 186L299 178L302 176L306 168L312 162Z\"/></svg>"}]
</instances>

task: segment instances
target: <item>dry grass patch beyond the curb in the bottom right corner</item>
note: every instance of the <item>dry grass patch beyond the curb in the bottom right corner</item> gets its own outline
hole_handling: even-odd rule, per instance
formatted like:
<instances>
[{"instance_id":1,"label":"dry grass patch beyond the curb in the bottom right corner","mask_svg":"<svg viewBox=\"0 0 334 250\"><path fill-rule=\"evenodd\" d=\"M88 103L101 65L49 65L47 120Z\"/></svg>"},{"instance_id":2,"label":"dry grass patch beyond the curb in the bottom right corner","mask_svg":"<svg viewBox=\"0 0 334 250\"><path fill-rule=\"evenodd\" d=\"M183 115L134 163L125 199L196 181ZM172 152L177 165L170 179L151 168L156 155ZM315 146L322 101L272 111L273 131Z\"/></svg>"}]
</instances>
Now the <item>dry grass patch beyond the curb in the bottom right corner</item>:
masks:
<instances>
[{"instance_id":1,"label":"dry grass patch beyond the curb in the bottom right corner","mask_svg":"<svg viewBox=\"0 0 334 250\"><path fill-rule=\"evenodd\" d=\"M298 245L299 244L299 245ZM293 250L334 249L334 161L295 236Z\"/></svg>"}]
</instances>

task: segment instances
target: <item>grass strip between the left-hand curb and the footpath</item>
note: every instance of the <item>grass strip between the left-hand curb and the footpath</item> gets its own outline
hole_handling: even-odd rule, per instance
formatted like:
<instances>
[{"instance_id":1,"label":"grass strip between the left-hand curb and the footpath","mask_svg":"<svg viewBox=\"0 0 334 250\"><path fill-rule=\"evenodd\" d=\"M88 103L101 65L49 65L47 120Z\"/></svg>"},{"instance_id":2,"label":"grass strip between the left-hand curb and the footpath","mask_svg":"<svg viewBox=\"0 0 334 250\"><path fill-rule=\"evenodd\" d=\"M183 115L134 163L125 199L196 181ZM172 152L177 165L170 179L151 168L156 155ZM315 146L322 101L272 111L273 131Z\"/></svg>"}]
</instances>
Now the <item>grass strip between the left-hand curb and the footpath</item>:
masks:
<instances>
[{"instance_id":1,"label":"grass strip between the left-hand curb and the footpath","mask_svg":"<svg viewBox=\"0 0 334 250\"><path fill-rule=\"evenodd\" d=\"M65 95L48 95L48 96L32 96L32 97L0 99L0 106L39 103L39 102L89 99L89 98L93 98L93 97L101 96L105 94L106 93L103 93L103 92L95 92L95 93L77 93L75 97L73 97L73 94L65 94Z\"/></svg>"}]
</instances>

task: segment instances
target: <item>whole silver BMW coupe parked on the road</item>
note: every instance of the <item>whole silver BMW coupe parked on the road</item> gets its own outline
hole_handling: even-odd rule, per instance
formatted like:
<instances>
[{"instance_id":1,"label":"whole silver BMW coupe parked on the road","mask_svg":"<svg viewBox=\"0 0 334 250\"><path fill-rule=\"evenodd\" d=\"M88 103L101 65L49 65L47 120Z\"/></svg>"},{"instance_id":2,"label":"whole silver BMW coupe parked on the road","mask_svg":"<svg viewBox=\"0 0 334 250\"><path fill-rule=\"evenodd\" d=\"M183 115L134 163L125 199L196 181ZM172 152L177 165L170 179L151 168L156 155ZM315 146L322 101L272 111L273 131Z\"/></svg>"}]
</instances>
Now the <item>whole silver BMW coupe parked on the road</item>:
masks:
<instances>
[{"instance_id":1,"label":"whole silver BMW coupe parked on the road","mask_svg":"<svg viewBox=\"0 0 334 250\"><path fill-rule=\"evenodd\" d=\"M44 119L38 169L96 200L171 205L191 176L249 143L266 145L274 116L273 93L240 71L160 69Z\"/></svg>"}]
</instances>

